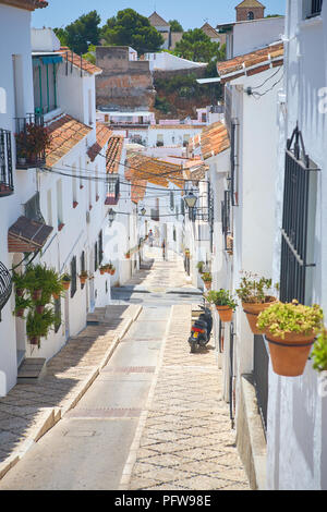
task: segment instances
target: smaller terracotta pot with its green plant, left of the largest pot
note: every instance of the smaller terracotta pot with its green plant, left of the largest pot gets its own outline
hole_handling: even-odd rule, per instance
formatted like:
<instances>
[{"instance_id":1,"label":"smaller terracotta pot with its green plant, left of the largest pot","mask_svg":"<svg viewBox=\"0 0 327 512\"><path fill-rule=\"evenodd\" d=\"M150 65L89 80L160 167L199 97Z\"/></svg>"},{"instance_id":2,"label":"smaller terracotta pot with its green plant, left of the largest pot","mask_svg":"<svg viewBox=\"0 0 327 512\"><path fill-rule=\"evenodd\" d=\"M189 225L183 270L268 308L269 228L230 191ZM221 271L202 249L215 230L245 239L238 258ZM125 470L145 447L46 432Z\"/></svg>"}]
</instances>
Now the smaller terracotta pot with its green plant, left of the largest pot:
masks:
<instances>
[{"instance_id":1,"label":"smaller terracotta pot with its green plant, left of the largest pot","mask_svg":"<svg viewBox=\"0 0 327 512\"><path fill-rule=\"evenodd\" d=\"M254 334L262 333L256 325L259 313L277 302L277 298L271 294L271 279L252 272L243 272L237 295L242 301L243 312Z\"/></svg>"}]
</instances>

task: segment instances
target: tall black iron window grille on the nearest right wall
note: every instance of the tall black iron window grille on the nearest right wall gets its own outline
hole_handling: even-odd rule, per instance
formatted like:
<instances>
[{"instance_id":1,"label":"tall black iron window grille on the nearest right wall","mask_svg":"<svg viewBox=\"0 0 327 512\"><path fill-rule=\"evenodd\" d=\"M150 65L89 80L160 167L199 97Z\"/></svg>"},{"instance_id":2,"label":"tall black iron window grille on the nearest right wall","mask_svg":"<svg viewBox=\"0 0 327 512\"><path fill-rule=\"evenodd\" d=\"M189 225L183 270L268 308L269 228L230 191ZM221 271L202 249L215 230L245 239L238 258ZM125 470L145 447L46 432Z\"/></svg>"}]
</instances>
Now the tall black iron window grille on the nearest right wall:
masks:
<instances>
[{"instance_id":1,"label":"tall black iron window grille on the nearest right wall","mask_svg":"<svg viewBox=\"0 0 327 512\"><path fill-rule=\"evenodd\" d=\"M317 170L305 154L302 134L296 126L286 151L280 269L282 302L296 298L305 304L308 298L307 269L315 267L317 175L313 171Z\"/></svg>"}]
</instances>

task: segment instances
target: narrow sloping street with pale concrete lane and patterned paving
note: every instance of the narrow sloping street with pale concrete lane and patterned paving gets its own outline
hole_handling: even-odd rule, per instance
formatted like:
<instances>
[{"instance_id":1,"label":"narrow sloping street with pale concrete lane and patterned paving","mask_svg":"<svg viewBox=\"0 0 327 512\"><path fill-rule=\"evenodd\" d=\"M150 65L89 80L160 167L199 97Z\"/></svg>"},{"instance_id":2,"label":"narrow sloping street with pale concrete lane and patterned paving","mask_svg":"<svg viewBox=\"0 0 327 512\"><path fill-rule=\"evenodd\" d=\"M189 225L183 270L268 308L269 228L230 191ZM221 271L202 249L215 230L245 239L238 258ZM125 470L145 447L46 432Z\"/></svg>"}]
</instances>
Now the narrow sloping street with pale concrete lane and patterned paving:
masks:
<instances>
[{"instance_id":1,"label":"narrow sloping street with pale concrete lane and patterned paving","mask_svg":"<svg viewBox=\"0 0 327 512\"><path fill-rule=\"evenodd\" d=\"M214 343L190 354L192 304L183 263L157 249L114 306L136 321L74 409L0 480L0 490L243 490L246 476L221 400ZM195 294L197 292L197 294Z\"/></svg>"}]
</instances>

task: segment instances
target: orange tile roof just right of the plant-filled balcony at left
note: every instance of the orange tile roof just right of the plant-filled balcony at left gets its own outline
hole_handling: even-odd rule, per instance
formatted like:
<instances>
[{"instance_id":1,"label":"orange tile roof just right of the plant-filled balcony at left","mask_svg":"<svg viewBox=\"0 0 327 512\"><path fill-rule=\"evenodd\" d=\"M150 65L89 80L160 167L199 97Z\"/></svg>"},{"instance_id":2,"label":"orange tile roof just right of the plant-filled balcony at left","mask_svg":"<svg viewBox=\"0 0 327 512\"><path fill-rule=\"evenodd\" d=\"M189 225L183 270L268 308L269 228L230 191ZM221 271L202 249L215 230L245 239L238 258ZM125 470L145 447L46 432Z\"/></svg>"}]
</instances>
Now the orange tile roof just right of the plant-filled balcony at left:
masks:
<instances>
[{"instance_id":1,"label":"orange tile roof just right of the plant-filled balcony at left","mask_svg":"<svg viewBox=\"0 0 327 512\"><path fill-rule=\"evenodd\" d=\"M51 145L46 150L46 164L48 167L55 166L92 132L92 127L68 114L55 120L47 127L51 136Z\"/></svg>"}]
</instances>

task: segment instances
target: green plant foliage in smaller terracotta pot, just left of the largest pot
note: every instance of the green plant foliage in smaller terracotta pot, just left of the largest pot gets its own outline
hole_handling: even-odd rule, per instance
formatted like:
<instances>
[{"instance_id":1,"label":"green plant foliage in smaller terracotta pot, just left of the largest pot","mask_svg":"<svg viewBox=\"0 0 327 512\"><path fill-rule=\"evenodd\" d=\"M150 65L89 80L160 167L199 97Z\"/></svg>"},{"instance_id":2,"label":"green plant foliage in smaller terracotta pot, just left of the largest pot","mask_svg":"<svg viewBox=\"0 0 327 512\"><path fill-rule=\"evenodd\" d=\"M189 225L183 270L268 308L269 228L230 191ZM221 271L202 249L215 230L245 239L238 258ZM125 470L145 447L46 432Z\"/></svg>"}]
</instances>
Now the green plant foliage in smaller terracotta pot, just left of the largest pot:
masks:
<instances>
[{"instance_id":1,"label":"green plant foliage in smaller terracotta pot, just left of the largest pot","mask_svg":"<svg viewBox=\"0 0 327 512\"><path fill-rule=\"evenodd\" d=\"M271 302L274 294L272 280L259 277L252 272L242 272L243 277L240 287L237 289L237 295L244 303L265 304Z\"/></svg>"}]
</instances>

